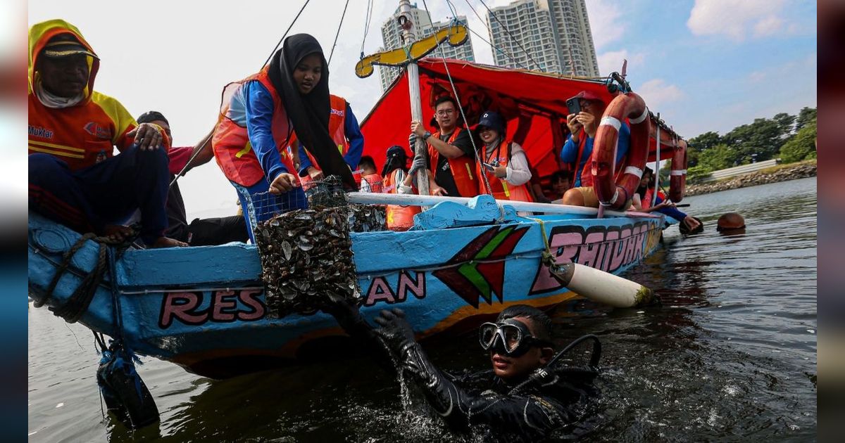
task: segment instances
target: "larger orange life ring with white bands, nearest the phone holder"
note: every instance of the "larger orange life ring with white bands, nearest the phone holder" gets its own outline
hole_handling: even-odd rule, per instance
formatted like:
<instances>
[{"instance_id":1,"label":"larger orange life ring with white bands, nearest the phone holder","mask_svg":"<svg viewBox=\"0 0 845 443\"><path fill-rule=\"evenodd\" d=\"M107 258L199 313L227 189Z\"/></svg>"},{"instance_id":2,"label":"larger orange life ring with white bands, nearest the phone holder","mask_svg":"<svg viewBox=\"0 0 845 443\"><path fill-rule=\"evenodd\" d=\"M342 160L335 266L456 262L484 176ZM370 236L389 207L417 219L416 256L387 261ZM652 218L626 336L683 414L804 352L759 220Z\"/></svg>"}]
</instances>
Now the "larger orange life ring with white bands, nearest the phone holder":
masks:
<instances>
[{"instance_id":1,"label":"larger orange life ring with white bands, nearest the phone holder","mask_svg":"<svg viewBox=\"0 0 845 443\"><path fill-rule=\"evenodd\" d=\"M628 118L631 129L628 162L624 174L613 182L616 176L616 143L622 119ZM642 171L648 159L649 131L651 119L642 97L629 92L617 95L604 111L593 143L591 158L592 186L598 202L605 208L624 208L637 186L640 186Z\"/></svg>"}]
</instances>

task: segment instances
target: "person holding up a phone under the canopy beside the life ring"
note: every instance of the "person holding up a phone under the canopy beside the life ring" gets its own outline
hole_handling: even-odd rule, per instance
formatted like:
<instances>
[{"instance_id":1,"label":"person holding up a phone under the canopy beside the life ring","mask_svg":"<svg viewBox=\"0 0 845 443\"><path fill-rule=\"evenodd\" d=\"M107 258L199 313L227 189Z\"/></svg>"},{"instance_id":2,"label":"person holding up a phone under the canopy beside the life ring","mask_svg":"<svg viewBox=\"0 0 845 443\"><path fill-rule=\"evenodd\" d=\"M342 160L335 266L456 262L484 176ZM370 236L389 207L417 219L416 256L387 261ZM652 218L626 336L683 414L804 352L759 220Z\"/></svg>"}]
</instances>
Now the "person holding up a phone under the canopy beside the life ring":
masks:
<instances>
[{"instance_id":1,"label":"person holding up a phone under the canopy beside the life ring","mask_svg":"<svg viewBox=\"0 0 845 443\"><path fill-rule=\"evenodd\" d=\"M592 155L592 145L598 123L607 103L594 92L581 91L575 97L581 105L581 111L566 116L566 126L570 128L570 138L564 143L560 151L560 159L564 163L572 164L575 175L572 177L572 188L564 193L563 203L576 206L598 208L598 197L592 187L592 174L586 167ZM619 142L616 145L616 165L621 165L630 146L630 127L624 122L619 127Z\"/></svg>"}]
</instances>

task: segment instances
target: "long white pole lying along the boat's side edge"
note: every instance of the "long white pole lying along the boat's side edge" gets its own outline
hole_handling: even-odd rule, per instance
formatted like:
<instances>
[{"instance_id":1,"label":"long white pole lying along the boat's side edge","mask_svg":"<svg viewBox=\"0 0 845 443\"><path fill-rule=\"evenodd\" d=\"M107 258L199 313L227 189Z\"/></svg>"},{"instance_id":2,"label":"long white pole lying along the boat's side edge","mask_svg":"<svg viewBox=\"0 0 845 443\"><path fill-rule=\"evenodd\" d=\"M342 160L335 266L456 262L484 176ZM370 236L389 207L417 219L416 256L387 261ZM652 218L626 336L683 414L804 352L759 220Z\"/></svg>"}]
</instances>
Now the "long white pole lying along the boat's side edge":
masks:
<instances>
[{"instance_id":1,"label":"long white pole lying along the boat's side edge","mask_svg":"<svg viewBox=\"0 0 845 443\"><path fill-rule=\"evenodd\" d=\"M402 206L433 206L440 202L453 202L466 205L472 198L470 197L440 197L440 196L423 196L417 194L390 194L380 192L348 192L346 197L349 198L349 203L361 204L396 204ZM499 206L509 205L516 211L537 212L537 213L569 213L575 215L595 216L598 212L597 208L585 208L583 206L573 206L566 204L552 204L552 203L532 203L532 202L518 202L514 200L496 200ZM618 217L630 217L632 214L620 211L605 211L608 215ZM647 213L636 213L637 217L648 217L657 219L659 215L652 215Z\"/></svg>"}]
</instances>

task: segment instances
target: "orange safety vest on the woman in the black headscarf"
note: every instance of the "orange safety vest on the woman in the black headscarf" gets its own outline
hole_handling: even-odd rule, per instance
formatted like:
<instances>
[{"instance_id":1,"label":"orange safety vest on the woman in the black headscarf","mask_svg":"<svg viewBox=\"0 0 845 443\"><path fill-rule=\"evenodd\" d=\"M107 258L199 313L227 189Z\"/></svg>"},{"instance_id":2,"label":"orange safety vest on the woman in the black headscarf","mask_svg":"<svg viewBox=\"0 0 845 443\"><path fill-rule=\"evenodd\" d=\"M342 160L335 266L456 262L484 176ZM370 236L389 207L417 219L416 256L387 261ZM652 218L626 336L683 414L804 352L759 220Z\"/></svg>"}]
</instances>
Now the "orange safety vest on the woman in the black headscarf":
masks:
<instances>
[{"instance_id":1,"label":"orange safety vest on the woman in the black headscarf","mask_svg":"<svg viewBox=\"0 0 845 443\"><path fill-rule=\"evenodd\" d=\"M252 143L249 142L249 134L247 132L246 111L243 116L233 116L232 105L236 105L237 97L240 96L240 89L244 85L252 81L258 81L264 85L270 95L273 97L273 122L271 130L273 132L273 140L275 141L275 149L281 155L281 162L288 171L295 174L293 161L291 156L287 154L287 141L290 139L292 133L292 126L287 118L285 105L281 103L281 98L275 91L275 87L270 82L268 70L270 66L262 68L258 73L250 75L239 82L226 85L226 89L235 88L236 91L232 94L232 99L223 106L221 110L221 117L218 119L215 127L214 136L211 138L211 147L214 149L214 156L217 160L217 165L223 170L223 174L227 179L234 181L241 186L253 186L264 178L264 170L261 168L261 163L255 155ZM224 91L224 95L226 91ZM242 103L237 103L238 107L242 107ZM235 118L238 121L235 121ZM240 121L240 120L243 120Z\"/></svg>"}]
</instances>

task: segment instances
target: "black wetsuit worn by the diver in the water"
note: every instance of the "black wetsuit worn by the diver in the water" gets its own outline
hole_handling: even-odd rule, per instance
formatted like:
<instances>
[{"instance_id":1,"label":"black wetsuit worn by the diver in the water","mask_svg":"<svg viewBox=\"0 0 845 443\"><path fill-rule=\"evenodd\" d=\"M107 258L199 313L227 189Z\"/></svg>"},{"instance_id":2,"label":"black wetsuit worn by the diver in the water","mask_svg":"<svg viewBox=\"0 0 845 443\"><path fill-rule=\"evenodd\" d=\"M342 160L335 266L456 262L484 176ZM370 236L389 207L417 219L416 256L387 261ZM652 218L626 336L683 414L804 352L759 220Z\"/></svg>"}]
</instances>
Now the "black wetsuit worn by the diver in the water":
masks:
<instances>
[{"instance_id":1,"label":"black wetsuit worn by the diver in the water","mask_svg":"<svg viewBox=\"0 0 845 443\"><path fill-rule=\"evenodd\" d=\"M383 366L402 371L451 429L481 435L484 441L547 439L553 432L575 424L586 399L596 393L591 382L597 369L590 366L558 368L545 377L511 384L493 375L492 370L472 375L474 381L469 377L454 377L435 367L412 336L401 337L401 332L395 331L385 333L385 328L376 332L359 315L357 318L339 316L337 312L333 315ZM385 347L390 349L398 367L385 364ZM479 384L487 389L471 386Z\"/></svg>"}]
</instances>

